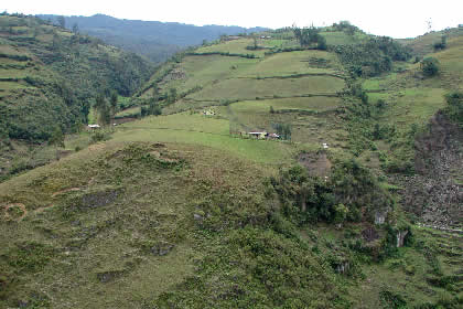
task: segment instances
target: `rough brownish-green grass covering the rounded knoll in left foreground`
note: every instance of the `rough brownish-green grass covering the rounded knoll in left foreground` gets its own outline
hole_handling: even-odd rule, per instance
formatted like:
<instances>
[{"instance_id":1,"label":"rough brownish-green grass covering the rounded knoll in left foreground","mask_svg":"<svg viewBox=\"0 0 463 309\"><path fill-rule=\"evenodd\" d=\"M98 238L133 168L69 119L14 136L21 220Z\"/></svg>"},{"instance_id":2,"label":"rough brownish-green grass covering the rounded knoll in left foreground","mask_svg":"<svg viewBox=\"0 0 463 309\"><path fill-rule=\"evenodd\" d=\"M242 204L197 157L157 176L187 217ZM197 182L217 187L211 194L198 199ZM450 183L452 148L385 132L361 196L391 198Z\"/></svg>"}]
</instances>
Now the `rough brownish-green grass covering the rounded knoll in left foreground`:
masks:
<instances>
[{"instance_id":1,"label":"rough brownish-green grass covering the rounded knoll in left foreground","mask_svg":"<svg viewBox=\"0 0 463 309\"><path fill-rule=\"evenodd\" d=\"M0 252L9 265L34 266L26 270L0 262L2 274L22 269L14 275L14 291L0 305L11 306L18 299L32 302L40 296L52 307L140 307L193 274L193 263L202 256L193 249L198 244L191 235L193 201L201 198L197 192L207 183L239 191L262 174L249 161L224 151L181 145L152 148L152 141L130 145L111 141L90 147L0 184L0 205L17 202L28 210L28 216L18 223L7 223L0 216L0 238L8 244ZM162 153L159 160L181 158L186 164L163 167L154 159L140 166L137 156L149 151ZM130 163L130 158L138 159ZM222 160L226 163L211 164ZM69 188L77 189L65 191ZM85 196L121 188L115 202L86 207L86 199L94 200ZM169 194L171 190L176 194ZM14 237L14 242L6 237ZM21 246L32 242L51 249L36 253L34 260L41 264L18 264L23 256ZM150 248L159 243L174 247L168 256L157 256ZM36 271L40 280L34 279ZM101 294L107 297L99 297Z\"/></svg>"}]
</instances>

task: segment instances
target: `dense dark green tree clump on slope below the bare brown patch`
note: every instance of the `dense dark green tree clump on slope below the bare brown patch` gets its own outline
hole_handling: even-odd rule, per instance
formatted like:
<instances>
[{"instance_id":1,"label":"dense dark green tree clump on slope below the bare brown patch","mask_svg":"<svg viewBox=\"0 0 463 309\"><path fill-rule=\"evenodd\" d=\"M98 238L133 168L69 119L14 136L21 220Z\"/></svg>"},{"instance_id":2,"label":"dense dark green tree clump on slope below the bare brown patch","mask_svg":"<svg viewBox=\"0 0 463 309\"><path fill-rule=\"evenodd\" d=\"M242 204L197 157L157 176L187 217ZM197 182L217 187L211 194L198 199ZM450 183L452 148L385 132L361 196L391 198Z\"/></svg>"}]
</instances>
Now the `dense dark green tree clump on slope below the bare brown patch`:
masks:
<instances>
[{"instance_id":1,"label":"dense dark green tree clump on slope below the bare brown patch","mask_svg":"<svg viewBox=\"0 0 463 309\"><path fill-rule=\"evenodd\" d=\"M284 216L298 224L373 221L375 211L394 209L390 194L355 160L334 164L327 180L311 177L305 168L294 166L280 170L269 184Z\"/></svg>"}]
</instances>

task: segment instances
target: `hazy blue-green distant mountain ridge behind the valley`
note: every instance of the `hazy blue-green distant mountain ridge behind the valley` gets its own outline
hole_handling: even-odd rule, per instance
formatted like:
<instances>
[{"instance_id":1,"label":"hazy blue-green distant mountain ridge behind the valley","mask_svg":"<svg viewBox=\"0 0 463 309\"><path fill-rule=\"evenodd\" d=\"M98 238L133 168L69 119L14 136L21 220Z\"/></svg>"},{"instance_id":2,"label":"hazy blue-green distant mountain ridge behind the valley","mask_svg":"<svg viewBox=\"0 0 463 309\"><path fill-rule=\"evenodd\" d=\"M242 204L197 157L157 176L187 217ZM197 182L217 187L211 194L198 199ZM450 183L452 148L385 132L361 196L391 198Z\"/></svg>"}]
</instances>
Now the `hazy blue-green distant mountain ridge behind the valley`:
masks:
<instances>
[{"instance_id":1,"label":"hazy blue-green distant mountain ridge behind the valley","mask_svg":"<svg viewBox=\"0 0 463 309\"><path fill-rule=\"evenodd\" d=\"M37 17L55 23L58 18L51 14ZM65 17L65 22L68 29L77 24L80 32L99 38L126 51L146 55L153 62L164 61L186 46L201 44L203 40L216 40L222 34L232 35L268 30L266 28L197 26L177 22L121 20L104 14Z\"/></svg>"}]
</instances>

